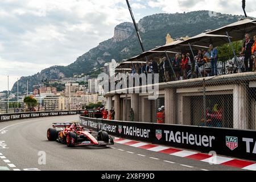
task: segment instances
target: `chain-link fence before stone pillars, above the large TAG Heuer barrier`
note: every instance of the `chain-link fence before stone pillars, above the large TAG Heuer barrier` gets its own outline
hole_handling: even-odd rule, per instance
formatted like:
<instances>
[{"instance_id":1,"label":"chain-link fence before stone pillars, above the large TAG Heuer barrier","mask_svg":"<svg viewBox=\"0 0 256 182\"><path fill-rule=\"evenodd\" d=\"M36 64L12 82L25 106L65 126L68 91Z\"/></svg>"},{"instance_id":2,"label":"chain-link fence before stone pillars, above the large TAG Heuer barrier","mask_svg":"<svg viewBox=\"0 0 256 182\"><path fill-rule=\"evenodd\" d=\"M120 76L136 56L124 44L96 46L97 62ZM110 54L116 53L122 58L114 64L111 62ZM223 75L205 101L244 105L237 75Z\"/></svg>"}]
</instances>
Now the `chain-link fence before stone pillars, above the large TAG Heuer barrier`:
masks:
<instances>
[{"instance_id":1,"label":"chain-link fence before stone pillars, above the large TAG Heuer barrier","mask_svg":"<svg viewBox=\"0 0 256 182\"><path fill-rule=\"evenodd\" d=\"M138 121L255 130L255 93L253 72L163 83L156 100L140 96Z\"/></svg>"}]
</instances>

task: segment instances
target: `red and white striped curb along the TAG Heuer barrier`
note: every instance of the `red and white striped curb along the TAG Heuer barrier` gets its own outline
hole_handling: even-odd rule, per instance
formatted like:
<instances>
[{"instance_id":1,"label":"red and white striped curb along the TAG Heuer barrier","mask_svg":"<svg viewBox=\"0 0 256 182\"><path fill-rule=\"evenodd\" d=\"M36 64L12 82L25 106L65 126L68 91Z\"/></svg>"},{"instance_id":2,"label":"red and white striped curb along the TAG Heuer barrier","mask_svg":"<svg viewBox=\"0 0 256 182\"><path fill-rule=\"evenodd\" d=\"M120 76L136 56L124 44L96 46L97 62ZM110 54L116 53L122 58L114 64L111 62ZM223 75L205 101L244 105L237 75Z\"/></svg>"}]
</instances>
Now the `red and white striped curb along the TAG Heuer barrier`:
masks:
<instances>
[{"instance_id":1,"label":"red and white striped curb along the TAG Heuer barrier","mask_svg":"<svg viewBox=\"0 0 256 182\"><path fill-rule=\"evenodd\" d=\"M225 156L218 156L218 155L213 156L208 154L202 154L195 151L186 151L186 150L181 150L177 148L159 146L157 144L138 142L135 140L129 140L129 139L123 139L123 138L117 138L117 137L115 137L114 142L119 144L125 144L131 147L141 148L148 151L160 152L163 154L168 154L173 156L179 156L181 158L199 160L201 162L207 162L209 164L218 164L222 166L236 167L236 168L256 171L256 162L251 162L247 160L233 159L233 158L228 158Z\"/></svg>"}]
</instances>

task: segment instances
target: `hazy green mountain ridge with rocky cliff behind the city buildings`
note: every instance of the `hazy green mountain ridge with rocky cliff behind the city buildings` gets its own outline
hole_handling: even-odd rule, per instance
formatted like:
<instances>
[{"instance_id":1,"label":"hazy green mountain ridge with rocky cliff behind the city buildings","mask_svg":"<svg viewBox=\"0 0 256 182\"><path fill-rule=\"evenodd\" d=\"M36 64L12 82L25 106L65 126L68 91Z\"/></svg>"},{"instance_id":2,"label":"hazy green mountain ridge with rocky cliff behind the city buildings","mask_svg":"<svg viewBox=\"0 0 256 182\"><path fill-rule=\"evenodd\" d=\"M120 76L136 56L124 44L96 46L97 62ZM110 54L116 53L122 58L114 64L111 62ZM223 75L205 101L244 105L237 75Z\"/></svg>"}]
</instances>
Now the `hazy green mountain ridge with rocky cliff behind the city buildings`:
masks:
<instances>
[{"instance_id":1,"label":"hazy green mountain ridge with rocky cliff behind the city buildings","mask_svg":"<svg viewBox=\"0 0 256 182\"><path fill-rule=\"evenodd\" d=\"M236 22L244 18L242 15L227 15L216 13L214 16L209 11L192 11L189 13L154 14L145 16L138 22L139 32L142 36L146 50L165 44L165 36L170 33L172 38L181 36L194 36L209 29L216 29L226 24ZM195 26L196 24L196 26ZM97 71L105 63L112 59L122 61L141 53L138 38L133 23L124 22L114 28L114 36L98 44L97 47L79 56L77 60L68 66L54 66L43 69L41 72L28 77L21 77L19 90L32 91L33 85L38 85L42 80L73 77L73 74L85 73L86 75ZM11 92L16 92L14 84Z\"/></svg>"}]
</instances>

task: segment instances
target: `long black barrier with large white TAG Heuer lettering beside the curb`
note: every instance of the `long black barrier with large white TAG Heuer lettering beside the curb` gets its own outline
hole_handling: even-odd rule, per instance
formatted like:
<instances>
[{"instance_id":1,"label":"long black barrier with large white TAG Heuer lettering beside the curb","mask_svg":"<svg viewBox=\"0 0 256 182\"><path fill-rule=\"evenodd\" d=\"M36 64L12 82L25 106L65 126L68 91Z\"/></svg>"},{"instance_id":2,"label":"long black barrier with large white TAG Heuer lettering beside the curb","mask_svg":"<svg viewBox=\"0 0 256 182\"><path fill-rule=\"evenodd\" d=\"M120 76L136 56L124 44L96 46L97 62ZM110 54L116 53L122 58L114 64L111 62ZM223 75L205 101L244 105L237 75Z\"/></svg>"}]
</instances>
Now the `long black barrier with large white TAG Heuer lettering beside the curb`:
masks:
<instances>
[{"instance_id":1,"label":"long black barrier with large white TAG Heuer lettering beside the curb","mask_svg":"<svg viewBox=\"0 0 256 182\"><path fill-rule=\"evenodd\" d=\"M110 121L82 116L80 123L87 129L105 130L115 137L256 160L256 131Z\"/></svg>"}]
</instances>

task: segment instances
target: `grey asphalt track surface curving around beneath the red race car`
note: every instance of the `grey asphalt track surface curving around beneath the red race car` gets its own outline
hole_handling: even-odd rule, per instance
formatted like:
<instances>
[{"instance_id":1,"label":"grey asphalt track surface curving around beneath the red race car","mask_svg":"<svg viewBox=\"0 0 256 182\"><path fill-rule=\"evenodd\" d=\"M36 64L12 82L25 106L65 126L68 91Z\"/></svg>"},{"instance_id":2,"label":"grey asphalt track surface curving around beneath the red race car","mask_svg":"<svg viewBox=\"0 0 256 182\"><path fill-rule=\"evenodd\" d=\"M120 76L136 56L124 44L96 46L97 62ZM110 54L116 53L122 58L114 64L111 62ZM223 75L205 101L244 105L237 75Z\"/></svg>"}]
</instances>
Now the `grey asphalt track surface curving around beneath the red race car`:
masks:
<instances>
[{"instance_id":1,"label":"grey asphalt track surface curving around beneath the red race car","mask_svg":"<svg viewBox=\"0 0 256 182\"><path fill-rule=\"evenodd\" d=\"M238 168L114 144L109 147L75 147L49 142L46 132L53 122L78 121L79 115L23 119L0 123L0 170L46 171L222 171ZM2 146L1 147L1 143ZM46 164L39 154L46 154ZM2 156L1 156L2 154Z\"/></svg>"}]
</instances>

